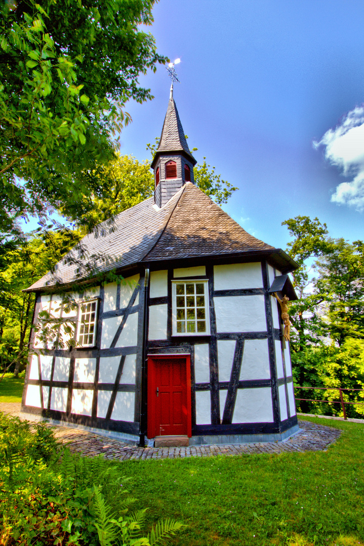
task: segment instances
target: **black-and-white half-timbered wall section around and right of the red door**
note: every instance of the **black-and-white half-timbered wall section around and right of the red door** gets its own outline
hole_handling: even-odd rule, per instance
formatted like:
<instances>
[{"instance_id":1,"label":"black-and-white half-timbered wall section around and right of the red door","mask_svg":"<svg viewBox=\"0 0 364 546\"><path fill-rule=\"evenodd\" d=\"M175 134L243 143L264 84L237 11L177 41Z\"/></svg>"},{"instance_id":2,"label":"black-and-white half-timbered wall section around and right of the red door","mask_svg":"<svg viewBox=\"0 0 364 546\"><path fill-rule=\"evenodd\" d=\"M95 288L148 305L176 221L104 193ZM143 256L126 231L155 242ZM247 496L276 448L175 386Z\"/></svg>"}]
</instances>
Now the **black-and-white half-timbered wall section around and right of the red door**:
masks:
<instances>
[{"instance_id":1,"label":"black-and-white half-timbered wall section around and right of the red door","mask_svg":"<svg viewBox=\"0 0 364 546\"><path fill-rule=\"evenodd\" d=\"M295 423L289 346L281 341L277 300L268 294L277 275L266 262L151 272L148 351L191 354L192 434L234 434L241 424L252 432L284 430ZM208 279L209 335L173 336L175 279Z\"/></svg>"}]
</instances>

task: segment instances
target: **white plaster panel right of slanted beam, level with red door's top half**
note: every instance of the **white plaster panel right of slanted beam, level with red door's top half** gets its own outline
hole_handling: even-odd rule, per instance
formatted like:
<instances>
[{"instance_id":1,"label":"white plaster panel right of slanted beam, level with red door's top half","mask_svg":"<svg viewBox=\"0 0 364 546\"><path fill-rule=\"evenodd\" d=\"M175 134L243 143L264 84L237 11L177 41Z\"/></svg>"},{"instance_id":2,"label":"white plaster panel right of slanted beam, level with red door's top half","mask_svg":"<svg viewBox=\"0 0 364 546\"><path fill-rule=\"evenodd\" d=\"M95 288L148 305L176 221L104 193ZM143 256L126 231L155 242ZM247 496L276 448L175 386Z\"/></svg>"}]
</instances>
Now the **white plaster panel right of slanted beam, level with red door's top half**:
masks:
<instances>
[{"instance_id":1,"label":"white plaster panel right of slanted beam, level with red door's top half","mask_svg":"<svg viewBox=\"0 0 364 546\"><path fill-rule=\"evenodd\" d=\"M245 340L240 381L270 378L268 340Z\"/></svg>"}]
</instances>

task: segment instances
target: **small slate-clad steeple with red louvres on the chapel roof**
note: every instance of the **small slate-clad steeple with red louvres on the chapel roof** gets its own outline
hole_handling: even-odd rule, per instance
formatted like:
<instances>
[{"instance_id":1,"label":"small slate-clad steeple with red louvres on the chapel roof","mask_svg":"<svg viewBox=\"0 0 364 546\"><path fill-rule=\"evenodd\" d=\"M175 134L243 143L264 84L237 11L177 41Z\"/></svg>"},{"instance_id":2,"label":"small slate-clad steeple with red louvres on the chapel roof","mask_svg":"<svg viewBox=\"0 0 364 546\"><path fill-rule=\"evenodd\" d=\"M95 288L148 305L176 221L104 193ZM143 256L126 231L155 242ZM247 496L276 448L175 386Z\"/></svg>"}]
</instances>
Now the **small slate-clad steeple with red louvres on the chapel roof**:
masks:
<instances>
[{"instance_id":1,"label":"small slate-clad steeple with red louvres on the chapel roof","mask_svg":"<svg viewBox=\"0 0 364 546\"><path fill-rule=\"evenodd\" d=\"M192 156L173 99L173 83L161 138L151 163L154 169L154 200L159 207L165 205L185 182L195 183Z\"/></svg>"}]
</instances>

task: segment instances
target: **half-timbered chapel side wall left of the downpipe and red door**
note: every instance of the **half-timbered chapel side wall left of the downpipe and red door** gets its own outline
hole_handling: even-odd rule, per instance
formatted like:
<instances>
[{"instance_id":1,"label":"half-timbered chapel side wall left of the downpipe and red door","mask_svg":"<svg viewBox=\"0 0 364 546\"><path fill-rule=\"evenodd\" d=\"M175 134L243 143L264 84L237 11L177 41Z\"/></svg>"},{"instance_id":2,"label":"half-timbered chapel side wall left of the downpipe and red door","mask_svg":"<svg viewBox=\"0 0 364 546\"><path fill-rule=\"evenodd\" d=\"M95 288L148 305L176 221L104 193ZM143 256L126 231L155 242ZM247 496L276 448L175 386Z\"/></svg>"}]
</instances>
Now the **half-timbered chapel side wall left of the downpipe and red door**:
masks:
<instances>
[{"instance_id":1,"label":"half-timbered chapel side wall left of the downpipe and red door","mask_svg":"<svg viewBox=\"0 0 364 546\"><path fill-rule=\"evenodd\" d=\"M42 310L60 319L54 340L58 346L53 349L52 341L45 347L32 334L36 352L28 366L26 411L48 410L51 417L138 434L142 284L143 278L133 275L73 295L79 302L98 301L93 347L81 347L77 341L78 310L66 312L60 296L38 296L35 322ZM69 333L64 330L67 325L76 345L71 349Z\"/></svg>"}]
</instances>

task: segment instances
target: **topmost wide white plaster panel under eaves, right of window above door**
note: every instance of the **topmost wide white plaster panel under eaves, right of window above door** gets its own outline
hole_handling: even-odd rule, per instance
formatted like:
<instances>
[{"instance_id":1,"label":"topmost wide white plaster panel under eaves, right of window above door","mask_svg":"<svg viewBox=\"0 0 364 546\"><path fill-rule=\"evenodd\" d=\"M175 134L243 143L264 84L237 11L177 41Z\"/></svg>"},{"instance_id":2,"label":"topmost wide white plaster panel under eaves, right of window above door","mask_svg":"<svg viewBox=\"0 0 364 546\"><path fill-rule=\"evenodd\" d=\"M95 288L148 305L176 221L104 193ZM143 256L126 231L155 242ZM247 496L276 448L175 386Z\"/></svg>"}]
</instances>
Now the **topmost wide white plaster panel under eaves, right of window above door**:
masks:
<instances>
[{"instance_id":1,"label":"topmost wide white plaster panel under eaves, right of window above door","mask_svg":"<svg viewBox=\"0 0 364 546\"><path fill-rule=\"evenodd\" d=\"M263 288L261 264L214 265L214 290Z\"/></svg>"}]
</instances>

